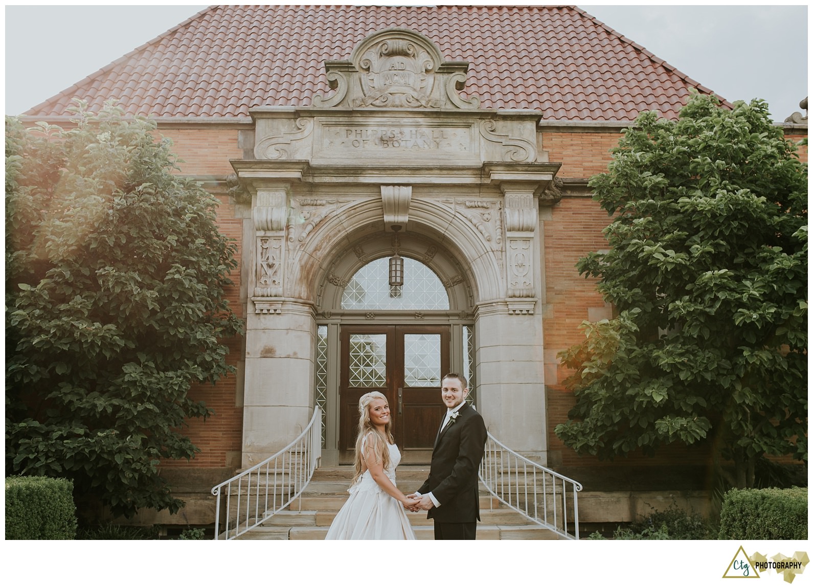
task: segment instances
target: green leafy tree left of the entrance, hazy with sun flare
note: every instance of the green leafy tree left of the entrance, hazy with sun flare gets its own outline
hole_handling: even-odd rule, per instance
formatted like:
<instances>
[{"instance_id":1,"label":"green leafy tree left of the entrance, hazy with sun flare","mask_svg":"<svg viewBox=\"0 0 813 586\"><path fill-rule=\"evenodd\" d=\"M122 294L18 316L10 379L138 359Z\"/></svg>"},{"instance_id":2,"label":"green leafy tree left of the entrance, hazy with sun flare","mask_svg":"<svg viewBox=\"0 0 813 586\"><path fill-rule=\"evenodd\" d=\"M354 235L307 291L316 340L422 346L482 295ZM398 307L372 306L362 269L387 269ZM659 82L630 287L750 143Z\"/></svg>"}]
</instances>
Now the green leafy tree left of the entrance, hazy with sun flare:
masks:
<instances>
[{"instance_id":1,"label":"green leafy tree left of the entrance, hazy with sun flare","mask_svg":"<svg viewBox=\"0 0 813 586\"><path fill-rule=\"evenodd\" d=\"M153 121L73 112L67 130L6 120L7 471L175 512L159 460L199 451L186 422L211 410L189 389L233 370L236 249Z\"/></svg>"}]
</instances>

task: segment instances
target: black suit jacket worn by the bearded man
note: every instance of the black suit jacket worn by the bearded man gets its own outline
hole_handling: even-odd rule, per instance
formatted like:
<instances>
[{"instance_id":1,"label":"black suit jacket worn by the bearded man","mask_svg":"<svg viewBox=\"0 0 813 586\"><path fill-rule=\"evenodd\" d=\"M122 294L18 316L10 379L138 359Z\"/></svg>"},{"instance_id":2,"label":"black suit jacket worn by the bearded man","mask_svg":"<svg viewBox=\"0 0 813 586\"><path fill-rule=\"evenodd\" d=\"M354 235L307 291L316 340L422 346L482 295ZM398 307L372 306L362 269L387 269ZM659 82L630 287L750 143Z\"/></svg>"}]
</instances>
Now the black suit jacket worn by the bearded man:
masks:
<instances>
[{"instance_id":1,"label":"black suit jacket worn by the bearded man","mask_svg":"<svg viewBox=\"0 0 813 586\"><path fill-rule=\"evenodd\" d=\"M472 523L480 520L477 471L485 449L483 417L467 403L458 418L443 428L432 452L429 477L418 489L431 492L441 506L429 510L436 523ZM444 417L446 413L444 412Z\"/></svg>"}]
</instances>

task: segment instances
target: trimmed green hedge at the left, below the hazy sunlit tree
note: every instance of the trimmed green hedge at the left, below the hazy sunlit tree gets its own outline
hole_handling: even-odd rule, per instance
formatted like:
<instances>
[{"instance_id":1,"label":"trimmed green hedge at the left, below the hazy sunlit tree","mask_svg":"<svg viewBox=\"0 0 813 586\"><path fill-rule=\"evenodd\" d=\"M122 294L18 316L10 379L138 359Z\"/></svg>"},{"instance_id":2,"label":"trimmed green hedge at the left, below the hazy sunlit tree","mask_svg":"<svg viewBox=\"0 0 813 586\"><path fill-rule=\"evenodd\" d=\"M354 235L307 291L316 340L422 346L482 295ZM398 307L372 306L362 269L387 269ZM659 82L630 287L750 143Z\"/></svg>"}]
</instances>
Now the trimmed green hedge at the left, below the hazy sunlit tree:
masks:
<instances>
[{"instance_id":1,"label":"trimmed green hedge at the left, below the hazy sunlit tree","mask_svg":"<svg viewBox=\"0 0 813 586\"><path fill-rule=\"evenodd\" d=\"M6 479L6 539L74 539L73 481L47 476Z\"/></svg>"}]
</instances>

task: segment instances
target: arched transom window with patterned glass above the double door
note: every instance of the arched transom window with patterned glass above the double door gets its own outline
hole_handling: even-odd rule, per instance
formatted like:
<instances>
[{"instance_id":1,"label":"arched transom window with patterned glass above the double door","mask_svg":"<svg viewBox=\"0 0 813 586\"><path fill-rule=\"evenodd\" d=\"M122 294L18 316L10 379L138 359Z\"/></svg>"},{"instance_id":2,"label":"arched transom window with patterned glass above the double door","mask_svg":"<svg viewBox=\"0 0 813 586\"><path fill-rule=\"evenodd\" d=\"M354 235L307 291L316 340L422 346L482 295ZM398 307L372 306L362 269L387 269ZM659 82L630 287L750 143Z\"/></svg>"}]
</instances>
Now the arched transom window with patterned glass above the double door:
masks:
<instances>
[{"instance_id":1,"label":"arched transom window with patterned glass above the double door","mask_svg":"<svg viewBox=\"0 0 813 586\"><path fill-rule=\"evenodd\" d=\"M389 284L389 261L378 258L356 271L341 294L345 310L447 310L449 295L432 269L404 258L404 284Z\"/></svg>"}]
</instances>

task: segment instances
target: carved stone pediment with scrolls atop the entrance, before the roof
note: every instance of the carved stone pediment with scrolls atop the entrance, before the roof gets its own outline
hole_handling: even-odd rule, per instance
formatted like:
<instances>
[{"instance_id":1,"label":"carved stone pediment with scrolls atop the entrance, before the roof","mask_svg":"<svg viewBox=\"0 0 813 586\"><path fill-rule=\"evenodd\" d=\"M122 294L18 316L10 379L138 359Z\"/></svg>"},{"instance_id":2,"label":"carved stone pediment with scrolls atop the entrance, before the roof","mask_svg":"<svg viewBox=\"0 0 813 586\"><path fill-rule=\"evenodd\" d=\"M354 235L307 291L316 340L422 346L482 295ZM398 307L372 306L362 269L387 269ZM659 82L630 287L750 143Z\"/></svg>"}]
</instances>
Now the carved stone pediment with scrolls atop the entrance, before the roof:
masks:
<instances>
[{"instance_id":1,"label":"carved stone pediment with scrolls atop the entrance, before the roof","mask_svg":"<svg viewBox=\"0 0 813 586\"><path fill-rule=\"evenodd\" d=\"M350 61L325 63L336 93L316 96L317 107L475 109L477 98L459 95L468 63L443 61L427 37L406 28L387 28L359 43Z\"/></svg>"}]
</instances>

